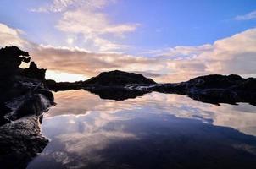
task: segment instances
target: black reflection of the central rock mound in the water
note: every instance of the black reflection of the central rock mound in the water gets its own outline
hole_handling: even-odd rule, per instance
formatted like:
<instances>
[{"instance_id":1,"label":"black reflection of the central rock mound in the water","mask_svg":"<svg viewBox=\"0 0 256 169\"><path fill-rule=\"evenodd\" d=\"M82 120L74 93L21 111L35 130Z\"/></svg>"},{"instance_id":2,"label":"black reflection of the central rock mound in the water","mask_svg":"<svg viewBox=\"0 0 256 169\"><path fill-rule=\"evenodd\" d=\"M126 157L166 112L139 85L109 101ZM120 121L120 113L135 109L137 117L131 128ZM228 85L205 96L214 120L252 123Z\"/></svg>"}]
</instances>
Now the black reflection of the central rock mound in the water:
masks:
<instances>
[{"instance_id":1,"label":"black reflection of the central rock mound in the water","mask_svg":"<svg viewBox=\"0 0 256 169\"><path fill-rule=\"evenodd\" d=\"M123 101L130 98L136 98L148 93L143 90L127 90L122 87L97 87L97 88L85 88L93 94L99 95L101 99L109 99L115 101Z\"/></svg>"}]
</instances>

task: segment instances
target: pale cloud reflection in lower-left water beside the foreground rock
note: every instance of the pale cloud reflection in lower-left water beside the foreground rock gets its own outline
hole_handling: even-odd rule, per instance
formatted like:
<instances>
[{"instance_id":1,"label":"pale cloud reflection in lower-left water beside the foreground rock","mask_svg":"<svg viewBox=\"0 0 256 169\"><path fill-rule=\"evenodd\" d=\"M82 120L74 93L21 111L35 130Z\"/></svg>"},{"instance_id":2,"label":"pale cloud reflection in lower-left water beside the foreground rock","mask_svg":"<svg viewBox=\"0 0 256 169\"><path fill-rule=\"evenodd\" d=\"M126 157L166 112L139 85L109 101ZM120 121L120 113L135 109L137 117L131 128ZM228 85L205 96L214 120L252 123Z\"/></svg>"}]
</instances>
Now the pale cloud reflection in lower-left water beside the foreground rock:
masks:
<instances>
[{"instance_id":1,"label":"pale cloud reflection in lower-left water beside the foreground rock","mask_svg":"<svg viewBox=\"0 0 256 169\"><path fill-rule=\"evenodd\" d=\"M42 156L69 166L68 168L74 168L74 164L75 168L83 168L88 161L103 161L101 155L97 155L97 150L103 150L109 144L121 140L137 139L135 134L124 132L120 126L115 128L114 131L104 128L108 122L117 120L117 118L111 118L111 114L109 115L110 119L108 115L104 116L104 113L95 112L95 114L91 114L90 117L70 115L45 118L42 130L48 131L47 136L55 142L58 141L58 146L61 148L54 151L45 151ZM97 123L103 120L102 115L105 118L104 123L98 125ZM122 117L119 117L119 119L122 119ZM51 128L60 129L60 131L57 134L49 134Z\"/></svg>"}]
</instances>

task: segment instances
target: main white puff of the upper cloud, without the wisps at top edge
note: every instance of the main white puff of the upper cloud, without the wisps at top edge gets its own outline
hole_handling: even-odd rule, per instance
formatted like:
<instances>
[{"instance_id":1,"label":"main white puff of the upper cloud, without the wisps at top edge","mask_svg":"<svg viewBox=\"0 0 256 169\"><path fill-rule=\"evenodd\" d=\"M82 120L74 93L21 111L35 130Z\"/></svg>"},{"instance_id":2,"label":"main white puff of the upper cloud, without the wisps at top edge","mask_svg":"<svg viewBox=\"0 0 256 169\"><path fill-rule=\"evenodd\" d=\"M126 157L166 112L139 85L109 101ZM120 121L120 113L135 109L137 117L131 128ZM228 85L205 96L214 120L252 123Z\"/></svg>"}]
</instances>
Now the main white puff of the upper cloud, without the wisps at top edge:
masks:
<instances>
[{"instance_id":1,"label":"main white puff of the upper cloud, without the wisps at top edge","mask_svg":"<svg viewBox=\"0 0 256 169\"><path fill-rule=\"evenodd\" d=\"M86 7L86 9L76 8L66 11L56 27L67 34L82 35L85 46L92 46L94 51L114 52L127 47L114 40L119 40L126 33L135 31L138 24L111 23L106 14L94 9Z\"/></svg>"}]
</instances>

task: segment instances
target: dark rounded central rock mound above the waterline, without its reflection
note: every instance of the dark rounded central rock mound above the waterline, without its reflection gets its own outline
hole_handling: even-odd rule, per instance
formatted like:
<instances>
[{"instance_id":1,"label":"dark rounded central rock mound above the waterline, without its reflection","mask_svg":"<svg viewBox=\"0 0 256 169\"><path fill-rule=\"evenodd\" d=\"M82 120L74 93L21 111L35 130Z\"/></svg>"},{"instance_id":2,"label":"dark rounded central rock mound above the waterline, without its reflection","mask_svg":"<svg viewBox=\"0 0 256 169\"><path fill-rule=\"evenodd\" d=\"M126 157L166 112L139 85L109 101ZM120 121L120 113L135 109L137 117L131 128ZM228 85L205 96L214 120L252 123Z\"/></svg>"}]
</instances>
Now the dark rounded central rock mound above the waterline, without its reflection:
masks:
<instances>
[{"instance_id":1,"label":"dark rounded central rock mound above the waterline, without its reflection","mask_svg":"<svg viewBox=\"0 0 256 169\"><path fill-rule=\"evenodd\" d=\"M129 85L129 84L156 84L153 79L147 79L142 74L127 73L120 70L103 72L88 79L84 85Z\"/></svg>"}]
</instances>

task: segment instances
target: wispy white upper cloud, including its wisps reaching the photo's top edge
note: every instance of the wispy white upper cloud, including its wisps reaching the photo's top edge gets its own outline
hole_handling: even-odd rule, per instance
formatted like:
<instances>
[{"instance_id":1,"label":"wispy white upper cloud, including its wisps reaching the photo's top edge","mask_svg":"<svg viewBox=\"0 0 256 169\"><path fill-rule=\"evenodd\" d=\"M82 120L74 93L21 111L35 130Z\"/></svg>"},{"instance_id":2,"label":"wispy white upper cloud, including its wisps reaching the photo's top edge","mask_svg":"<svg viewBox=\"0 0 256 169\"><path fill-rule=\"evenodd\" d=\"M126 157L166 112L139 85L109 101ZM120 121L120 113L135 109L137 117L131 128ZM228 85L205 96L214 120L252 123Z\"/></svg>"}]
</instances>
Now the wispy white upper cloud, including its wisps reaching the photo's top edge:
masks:
<instances>
[{"instance_id":1,"label":"wispy white upper cloud, including its wisps reaching the photo's top edge","mask_svg":"<svg viewBox=\"0 0 256 169\"><path fill-rule=\"evenodd\" d=\"M120 52L129 46L121 44L125 34L133 32L137 23L114 23L103 9L116 0L53 0L46 7L36 8L34 12L60 13L55 26L66 35L72 45L82 43L91 51ZM79 41L76 41L76 40ZM81 39L83 39L81 41Z\"/></svg>"}]
</instances>

